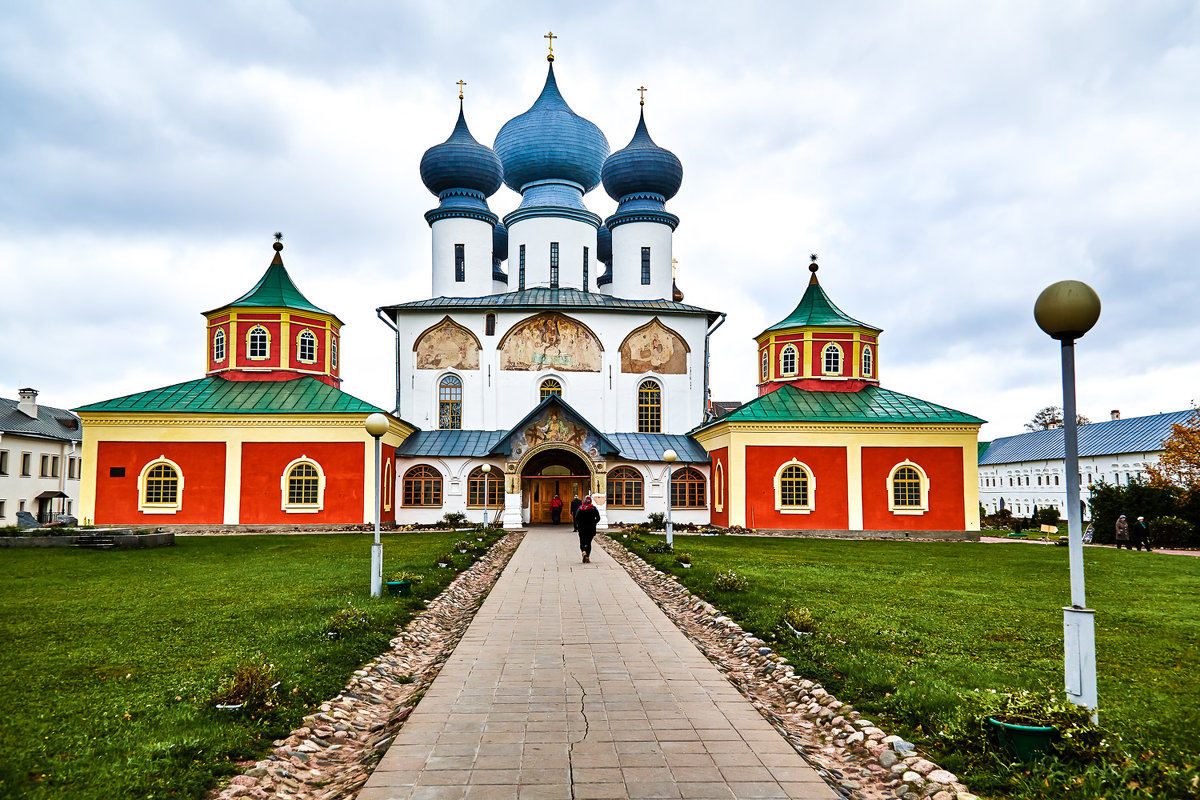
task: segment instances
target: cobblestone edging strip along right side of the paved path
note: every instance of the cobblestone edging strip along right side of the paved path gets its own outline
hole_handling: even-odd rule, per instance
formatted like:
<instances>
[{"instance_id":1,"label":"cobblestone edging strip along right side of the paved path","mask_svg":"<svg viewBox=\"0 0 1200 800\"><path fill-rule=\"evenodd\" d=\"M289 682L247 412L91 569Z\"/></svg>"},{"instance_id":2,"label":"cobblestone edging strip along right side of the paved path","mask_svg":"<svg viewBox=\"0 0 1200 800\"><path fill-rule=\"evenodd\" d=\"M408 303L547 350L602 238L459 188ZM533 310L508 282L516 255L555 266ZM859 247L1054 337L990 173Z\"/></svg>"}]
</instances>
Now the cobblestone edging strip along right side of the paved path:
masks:
<instances>
[{"instance_id":1,"label":"cobblestone edging strip along right side of the paved path","mask_svg":"<svg viewBox=\"0 0 1200 800\"><path fill-rule=\"evenodd\" d=\"M684 634L844 796L977 800L958 777L889 736L820 684L798 678L781 656L674 576L608 536L596 541Z\"/></svg>"}]
</instances>

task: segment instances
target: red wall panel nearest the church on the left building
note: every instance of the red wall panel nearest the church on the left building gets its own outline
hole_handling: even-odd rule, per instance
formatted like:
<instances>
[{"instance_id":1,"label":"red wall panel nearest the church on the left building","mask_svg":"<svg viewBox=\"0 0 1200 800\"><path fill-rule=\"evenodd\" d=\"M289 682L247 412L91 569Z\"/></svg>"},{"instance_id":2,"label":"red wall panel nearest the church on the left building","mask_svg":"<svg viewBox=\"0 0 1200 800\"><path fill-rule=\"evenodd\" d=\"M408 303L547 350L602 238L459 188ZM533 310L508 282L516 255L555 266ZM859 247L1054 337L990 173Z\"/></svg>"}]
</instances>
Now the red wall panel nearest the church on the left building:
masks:
<instances>
[{"instance_id":1,"label":"red wall panel nearest the church on the left building","mask_svg":"<svg viewBox=\"0 0 1200 800\"><path fill-rule=\"evenodd\" d=\"M348 524L362 523L361 441L247 441L241 446L242 524ZM300 456L320 464L325 474L324 506L317 513L287 513L280 480L283 469Z\"/></svg>"}]
</instances>

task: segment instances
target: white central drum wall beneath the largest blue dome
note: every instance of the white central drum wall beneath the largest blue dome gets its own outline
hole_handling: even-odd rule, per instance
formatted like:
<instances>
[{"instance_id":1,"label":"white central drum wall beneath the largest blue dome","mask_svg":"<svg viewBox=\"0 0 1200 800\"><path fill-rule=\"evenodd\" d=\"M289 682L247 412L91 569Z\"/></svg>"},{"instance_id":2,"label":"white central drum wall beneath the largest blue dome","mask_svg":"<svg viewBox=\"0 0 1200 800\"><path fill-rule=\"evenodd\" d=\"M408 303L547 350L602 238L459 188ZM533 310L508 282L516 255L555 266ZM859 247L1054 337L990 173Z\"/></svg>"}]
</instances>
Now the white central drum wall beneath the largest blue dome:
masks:
<instances>
[{"instance_id":1,"label":"white central drum wall beneath the largest blue dome","mask_svg":"<svg viewBox=\"0 0 1200 800\"><path fill-rule=\"evenodd\" d=\"M596 229L578 219L530 217L509 228L509 291L520 285L521 246L526 246L526 289L550 285L550 242L558 242L558 287L594 291L596 285ZM583 285L583 248L588 248L588 284ZM604 265L600 265L601 271Z\"/></svg>"}]
</instances>

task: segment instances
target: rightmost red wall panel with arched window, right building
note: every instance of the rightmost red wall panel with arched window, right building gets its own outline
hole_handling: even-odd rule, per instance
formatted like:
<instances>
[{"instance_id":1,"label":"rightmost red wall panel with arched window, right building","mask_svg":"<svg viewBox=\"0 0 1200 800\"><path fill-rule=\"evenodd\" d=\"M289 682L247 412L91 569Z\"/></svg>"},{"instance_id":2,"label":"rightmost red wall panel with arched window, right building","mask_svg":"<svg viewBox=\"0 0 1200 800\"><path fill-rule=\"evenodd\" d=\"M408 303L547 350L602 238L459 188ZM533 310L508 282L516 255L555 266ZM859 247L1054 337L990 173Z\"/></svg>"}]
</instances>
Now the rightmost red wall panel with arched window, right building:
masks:
<instances>
[{"instance_id":1,"label":"rightmost red wall panel with arched window, right building","mask_svg":"<svg viewBox=\"0 0 1200 800\"><path fill-rule=\"evenodd\" d=\"M888 511L888 475L911 461L929 476L929 511L894 515ZM961 447L863 447L863 527L868 530L962 530Z\"/></svg>"}]
</instances>

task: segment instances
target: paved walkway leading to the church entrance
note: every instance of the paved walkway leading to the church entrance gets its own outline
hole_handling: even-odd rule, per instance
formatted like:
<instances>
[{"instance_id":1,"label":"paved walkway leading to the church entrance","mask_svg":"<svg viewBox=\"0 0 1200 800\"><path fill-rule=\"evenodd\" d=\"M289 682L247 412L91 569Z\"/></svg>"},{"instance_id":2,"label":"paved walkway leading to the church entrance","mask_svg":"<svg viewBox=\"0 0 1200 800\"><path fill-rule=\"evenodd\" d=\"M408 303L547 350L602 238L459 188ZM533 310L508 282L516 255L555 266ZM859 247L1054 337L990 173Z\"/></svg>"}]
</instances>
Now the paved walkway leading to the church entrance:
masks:
<instances>
[{"instance_id":1,"label":"paved walkway leading to the church entrance","mask_svg":"<svg viewBox=\"0 0 1200 800\"><path fill-rule=\"evenodd\" d=\"M838 795L599 547L530 530L359 800Z\"/></svg>"}]
</instances>

